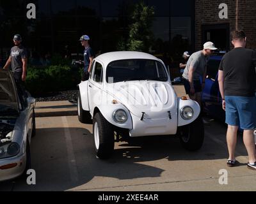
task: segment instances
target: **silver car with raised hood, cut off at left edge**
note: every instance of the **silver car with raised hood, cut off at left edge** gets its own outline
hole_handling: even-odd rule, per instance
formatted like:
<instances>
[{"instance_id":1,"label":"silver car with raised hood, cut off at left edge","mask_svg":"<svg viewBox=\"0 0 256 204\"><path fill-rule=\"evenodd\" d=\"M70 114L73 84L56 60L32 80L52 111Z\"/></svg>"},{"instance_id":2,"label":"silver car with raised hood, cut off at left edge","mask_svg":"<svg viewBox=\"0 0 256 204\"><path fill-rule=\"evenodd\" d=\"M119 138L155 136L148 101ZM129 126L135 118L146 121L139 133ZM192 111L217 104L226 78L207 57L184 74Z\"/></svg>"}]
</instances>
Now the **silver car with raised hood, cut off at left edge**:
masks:
<instances>
[{"instance_id":1,"label":"silver car with raised hood, cut off at left edge","mask_svg":"<svg viewBox=\"0 0 256 204\"><path fill-rule=\"evenodd\" d=\"M30 168L30 142L35 136L35 98L19 97L13 75L0 69L0 181Z\"/></svg>"}]
</instances>

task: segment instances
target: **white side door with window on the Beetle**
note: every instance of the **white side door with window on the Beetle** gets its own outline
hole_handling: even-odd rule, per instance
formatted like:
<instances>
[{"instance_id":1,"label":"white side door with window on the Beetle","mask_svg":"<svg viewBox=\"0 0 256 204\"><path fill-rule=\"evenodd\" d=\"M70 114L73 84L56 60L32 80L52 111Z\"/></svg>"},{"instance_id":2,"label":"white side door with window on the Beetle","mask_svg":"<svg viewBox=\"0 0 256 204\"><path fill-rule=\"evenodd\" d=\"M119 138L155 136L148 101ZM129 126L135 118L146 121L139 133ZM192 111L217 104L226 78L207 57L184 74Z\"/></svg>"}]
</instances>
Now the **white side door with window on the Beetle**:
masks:
<instances>
[{"instance_id":1,"label":"white side door with window on the Beetle","mask_svg":"<svg viewBox=\"0 0 256 204\"><path fill-rule=\"evenodd\" d=\"M95 107L100 102L100 93L103 89L103 65L99 61L95 61L93 66L92 75L89 78L88 82L88 99L90 105L90 112L93 115Z\"/></svg>"}]
</instances>

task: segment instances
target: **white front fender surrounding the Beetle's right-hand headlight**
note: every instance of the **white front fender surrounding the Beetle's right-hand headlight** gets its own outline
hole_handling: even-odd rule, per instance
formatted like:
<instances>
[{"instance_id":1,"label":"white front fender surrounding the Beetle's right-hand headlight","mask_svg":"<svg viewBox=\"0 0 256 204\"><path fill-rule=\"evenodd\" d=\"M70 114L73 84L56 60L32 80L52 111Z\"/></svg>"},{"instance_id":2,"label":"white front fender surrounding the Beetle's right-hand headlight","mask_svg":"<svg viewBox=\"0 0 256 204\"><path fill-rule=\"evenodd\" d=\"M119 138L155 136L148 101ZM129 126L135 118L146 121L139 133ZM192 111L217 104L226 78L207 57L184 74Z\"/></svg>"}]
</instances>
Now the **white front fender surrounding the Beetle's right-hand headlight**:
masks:
<instances>
[{"instance_id":1,"label":"white front fender surrounding the Beetle's right-hand headlight","mask_svg":"<svg viewBox=\"0 0 256 204\"><path fill-rule=\"evenodd\" d=\"M186 126L188 124L190 124L191 122L194 122L198 116L200 115L200 106L196 101L193 100L182 100L180 98L178 98L178 104L179 104L179 109L178 109L178 126ZM182 108L186 107L186 106L190 106L191 108L193 108L194 110L194 116L192 119L190 120L184 120L181 117L181 110Z\"/></svg>"}]
</instances>

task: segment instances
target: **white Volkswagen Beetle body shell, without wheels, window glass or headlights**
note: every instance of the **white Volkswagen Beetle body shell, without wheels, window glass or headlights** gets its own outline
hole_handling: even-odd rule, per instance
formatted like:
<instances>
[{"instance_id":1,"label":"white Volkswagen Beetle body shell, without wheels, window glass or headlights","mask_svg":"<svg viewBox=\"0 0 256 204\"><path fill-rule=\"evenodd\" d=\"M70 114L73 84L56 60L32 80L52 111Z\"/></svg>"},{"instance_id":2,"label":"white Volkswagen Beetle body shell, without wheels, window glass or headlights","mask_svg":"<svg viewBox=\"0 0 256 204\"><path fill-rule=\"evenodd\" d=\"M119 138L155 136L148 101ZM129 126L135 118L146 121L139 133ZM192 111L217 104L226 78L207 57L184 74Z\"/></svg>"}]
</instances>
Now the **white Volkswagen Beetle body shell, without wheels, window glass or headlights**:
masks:
<instances>
[{"instance_id":1,"label":"white Volkswagen Beetle body shell, without wheels, window glass or headlights","mask_svg":"<svg viewBox=\"0 0 256 204\"><path fill-rule=\"evenodd\" d=\"M157 72L160 70L158 66L163 66L166 81L131 80L108 83L106 69L110 63L135 59L156 62ZM95 74L96 66L102 67L100 80ZM78 103L81 105L78 105L78 115L81 115L81 112L90 112L93 119L95 113L100 112L109 124L129 130L131 138L176 135L178 127L191 124L200 114L198 103L177 97L163 61L143 52L110 52L99 55L93 60L89 80L79 84L79 94L81 98ZM183 119L181 111L188 106L193 109L193 117ZM126 122L116 122L113 114L117 110L127 113Z\"/></svg>"}]
</instances>

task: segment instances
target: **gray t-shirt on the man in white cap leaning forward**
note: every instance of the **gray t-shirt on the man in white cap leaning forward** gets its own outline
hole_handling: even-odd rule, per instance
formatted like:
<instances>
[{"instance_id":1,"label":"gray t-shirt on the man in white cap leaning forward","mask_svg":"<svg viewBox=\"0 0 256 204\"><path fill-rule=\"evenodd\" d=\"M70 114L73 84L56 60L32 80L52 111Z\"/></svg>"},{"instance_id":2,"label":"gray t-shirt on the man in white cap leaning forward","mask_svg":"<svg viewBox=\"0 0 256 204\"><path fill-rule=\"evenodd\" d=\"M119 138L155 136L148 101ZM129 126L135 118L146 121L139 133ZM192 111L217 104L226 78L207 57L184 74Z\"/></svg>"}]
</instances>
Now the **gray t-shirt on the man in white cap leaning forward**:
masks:
<instances>
[{"instance_id":1,"label":"gray t-shirt on the man in white cap leaning forward","mask_svg":"<svg viewBox=\"0 0 256 204\"><path fill-rule=\"evenodd\" d=\"M202 51L195 52L189 57L186 68L182 77L189 80L189 68L192 66L195 69L193 80L200 80L205 73L205 68L209 61L209 56L205 56Z\"/></svg>"}]
</instances>

